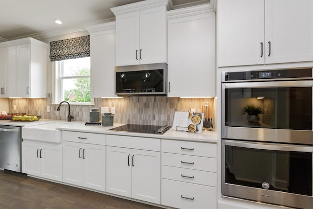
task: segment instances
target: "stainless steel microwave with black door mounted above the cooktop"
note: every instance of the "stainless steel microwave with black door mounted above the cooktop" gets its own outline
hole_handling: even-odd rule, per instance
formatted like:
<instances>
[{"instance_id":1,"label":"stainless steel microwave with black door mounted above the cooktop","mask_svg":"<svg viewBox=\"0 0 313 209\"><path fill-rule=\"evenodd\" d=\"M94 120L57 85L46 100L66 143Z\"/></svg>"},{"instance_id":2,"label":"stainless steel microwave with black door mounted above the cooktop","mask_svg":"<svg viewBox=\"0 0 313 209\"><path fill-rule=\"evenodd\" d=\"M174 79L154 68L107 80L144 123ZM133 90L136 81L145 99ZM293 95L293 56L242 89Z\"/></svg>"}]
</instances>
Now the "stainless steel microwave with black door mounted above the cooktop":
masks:
<instances>
[{"instance_id":1,"label":"stainless steel microwave with black door mounted above the cooktop","mask_svg":"<svg viewBox=\"0 0 313 209\"><path fill-rule=\"evenodd\" d=\"M117 95L166 95L166 87L166 63L115 67Z\"/></svg>"}]
</instances>

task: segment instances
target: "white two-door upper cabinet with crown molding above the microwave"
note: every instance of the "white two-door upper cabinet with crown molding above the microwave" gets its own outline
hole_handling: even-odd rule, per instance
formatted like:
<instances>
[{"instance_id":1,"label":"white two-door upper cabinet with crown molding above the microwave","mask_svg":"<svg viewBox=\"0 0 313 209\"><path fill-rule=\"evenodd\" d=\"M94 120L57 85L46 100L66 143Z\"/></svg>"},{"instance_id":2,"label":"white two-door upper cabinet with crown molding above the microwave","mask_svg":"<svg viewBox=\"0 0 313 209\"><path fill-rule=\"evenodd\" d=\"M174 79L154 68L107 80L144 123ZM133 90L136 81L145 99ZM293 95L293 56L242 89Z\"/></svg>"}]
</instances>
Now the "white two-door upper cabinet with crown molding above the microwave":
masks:
<instances>
[{"instance_id":1,"label":"white two-door upper cabinet with crown molding above the microwave","mask_svg":"<svg viewBox=\"0 0 313 209\"><path fill-rule=\"evenodd\" d=\"M167 0L111 8L116 18L116 66L167 61Z\"/></svg>"}]
</instances>

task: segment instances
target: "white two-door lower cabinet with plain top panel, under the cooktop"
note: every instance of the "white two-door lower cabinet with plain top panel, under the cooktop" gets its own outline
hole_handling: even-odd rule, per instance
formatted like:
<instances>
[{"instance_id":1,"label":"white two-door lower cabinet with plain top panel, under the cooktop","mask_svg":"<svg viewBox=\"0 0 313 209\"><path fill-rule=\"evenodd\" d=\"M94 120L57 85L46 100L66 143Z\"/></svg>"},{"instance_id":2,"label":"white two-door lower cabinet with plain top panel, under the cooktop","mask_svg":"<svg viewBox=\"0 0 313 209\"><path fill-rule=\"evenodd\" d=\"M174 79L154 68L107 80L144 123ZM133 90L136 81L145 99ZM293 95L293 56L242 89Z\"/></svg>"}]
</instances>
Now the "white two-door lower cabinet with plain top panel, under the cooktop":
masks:
<instances>
[{"instance_id":1,"label":"white two-door lower cabinet with plain top panel, under the cooktop","mask_svg":"<svg viewBox=\"0 0 313 209\"><path fill-rule=\"evenodd\" d=\"M142 140L147 142L146 146L142 147ZM137 146L159 149L153 146L155 143L158 144L156 147L160 147L160 139L108 135L106 191L160 204L160 152L134 149ZM123 146L122 144L124 147L116 147Z\"/></svg>"}]
</instances>

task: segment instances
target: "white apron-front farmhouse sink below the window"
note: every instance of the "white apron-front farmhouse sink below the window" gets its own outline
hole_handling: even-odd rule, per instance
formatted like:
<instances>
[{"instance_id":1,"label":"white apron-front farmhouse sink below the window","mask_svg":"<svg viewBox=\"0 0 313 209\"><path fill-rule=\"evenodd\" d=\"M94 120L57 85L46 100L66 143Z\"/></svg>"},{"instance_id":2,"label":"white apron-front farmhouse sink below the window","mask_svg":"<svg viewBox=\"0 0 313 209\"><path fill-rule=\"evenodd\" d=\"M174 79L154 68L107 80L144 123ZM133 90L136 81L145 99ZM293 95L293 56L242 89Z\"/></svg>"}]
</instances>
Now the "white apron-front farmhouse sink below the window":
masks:
<instances>
[{"instance_id":1,"label":"white apron-front farmhouse sink below the window","mask_svg":"<svg viewBox=\"0 0 313 209\"><path fill-rule=\"evenodd\" d=\"M22 127L22 139L61 143L61 130L56 128L74 124L71 122L47 122Z\"/></svg>"}]
</instances>

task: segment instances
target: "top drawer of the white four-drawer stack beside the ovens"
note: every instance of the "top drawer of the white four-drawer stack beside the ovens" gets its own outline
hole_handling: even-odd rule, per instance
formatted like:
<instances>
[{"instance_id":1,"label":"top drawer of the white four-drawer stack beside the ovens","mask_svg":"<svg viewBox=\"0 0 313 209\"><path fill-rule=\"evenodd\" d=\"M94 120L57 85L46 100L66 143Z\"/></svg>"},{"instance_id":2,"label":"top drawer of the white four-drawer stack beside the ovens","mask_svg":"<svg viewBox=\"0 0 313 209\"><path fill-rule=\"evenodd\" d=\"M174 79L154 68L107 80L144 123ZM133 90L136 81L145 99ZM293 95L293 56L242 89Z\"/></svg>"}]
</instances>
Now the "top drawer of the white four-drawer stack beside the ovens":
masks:
<instances>
[{"instance_id":1,"label":"top drawer of the white four-drawer stack beside the ovens","mask_svg":"<svg viewBox=\"0 0 313 209\"><path fill-rule=\"evenodd\" d=\"M201 143L179 140L162 140L162 152L170 152L184 155L195 155L216 158L217 146L214 143Z\"/></svg>"}]
</instances>

